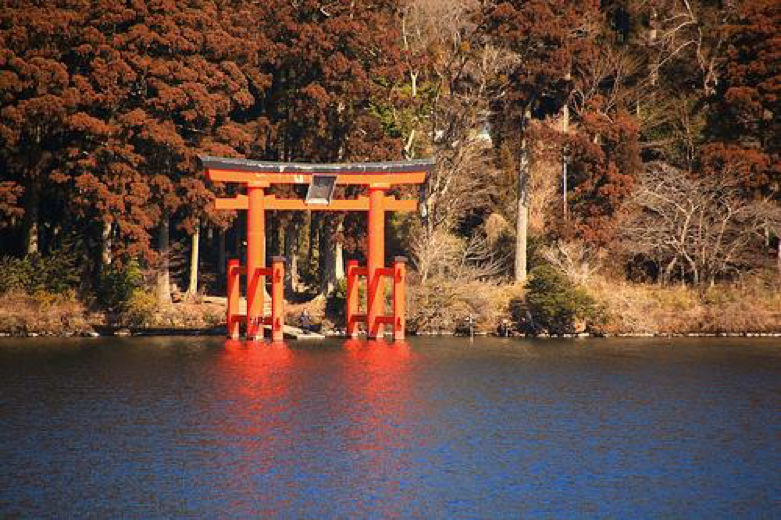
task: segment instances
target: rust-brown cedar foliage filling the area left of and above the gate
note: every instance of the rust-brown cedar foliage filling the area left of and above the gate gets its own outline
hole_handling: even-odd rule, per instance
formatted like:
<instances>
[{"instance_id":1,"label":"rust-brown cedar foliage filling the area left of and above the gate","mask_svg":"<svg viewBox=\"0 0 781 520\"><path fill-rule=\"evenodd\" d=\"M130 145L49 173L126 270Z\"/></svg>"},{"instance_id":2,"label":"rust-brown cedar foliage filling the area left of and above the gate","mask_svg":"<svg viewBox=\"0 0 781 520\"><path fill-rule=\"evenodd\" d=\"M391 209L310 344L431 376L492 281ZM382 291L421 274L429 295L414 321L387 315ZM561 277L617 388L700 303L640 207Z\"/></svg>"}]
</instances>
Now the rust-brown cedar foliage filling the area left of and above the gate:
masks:
<instances>
[{"instance_id":1,"label":"rust-brown cedar foliage filling the area left of and above the gate","mask_svg":"<svg viewBox=\"0 0 781 520\"><path fill-rule=\"evenodd\" d=\"M163 213L224 224L198 153L398 158L371 103L400 68L395 0L0 0L0 210L56 183L115 253L149 253ZM5 182L5 179L4 179Z\"/></svg>"}]
</instances>

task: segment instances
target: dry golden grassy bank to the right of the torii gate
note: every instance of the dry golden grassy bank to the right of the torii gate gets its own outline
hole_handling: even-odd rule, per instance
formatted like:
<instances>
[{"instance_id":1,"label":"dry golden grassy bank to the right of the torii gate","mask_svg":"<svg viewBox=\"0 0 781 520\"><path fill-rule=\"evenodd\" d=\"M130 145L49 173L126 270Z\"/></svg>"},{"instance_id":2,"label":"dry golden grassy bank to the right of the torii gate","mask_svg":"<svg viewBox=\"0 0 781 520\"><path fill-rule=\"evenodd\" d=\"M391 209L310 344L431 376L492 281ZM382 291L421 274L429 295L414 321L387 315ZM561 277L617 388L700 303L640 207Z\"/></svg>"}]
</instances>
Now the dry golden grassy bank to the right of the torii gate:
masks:
<instances>
[{"instance_id":1,"label":"dry golden grassy bank to the right of the torii gate","mask_svg":"<svg viewBox=\"0 0 781 520\"><path fill-rule=\"evenodd\" d=\"M691 286L639 284L592 277L578 289L594 312L575 315L568 332L593 334L718 334L781 332L781 282L772 273L740 283ZM420 333L454 332L469 315L478 332L495 332L507 320L520 333L529 329L527 288L472 282L434 282L411 291L410 320ZM563 299L571 300L570 294ZM549 332L536 330L535 332Z\"/></svg>"}]
</instances>

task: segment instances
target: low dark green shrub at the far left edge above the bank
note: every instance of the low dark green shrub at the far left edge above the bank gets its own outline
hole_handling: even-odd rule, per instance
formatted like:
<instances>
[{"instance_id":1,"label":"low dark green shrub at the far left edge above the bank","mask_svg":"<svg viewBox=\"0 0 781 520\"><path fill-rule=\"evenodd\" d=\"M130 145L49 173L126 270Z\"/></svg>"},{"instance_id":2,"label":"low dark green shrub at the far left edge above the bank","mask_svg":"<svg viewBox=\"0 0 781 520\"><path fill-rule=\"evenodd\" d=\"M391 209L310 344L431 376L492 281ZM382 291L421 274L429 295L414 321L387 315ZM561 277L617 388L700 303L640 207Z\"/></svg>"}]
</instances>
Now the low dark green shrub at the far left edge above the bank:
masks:
<instances>
[{"instance_id":1,"label":"low dark green shrub at the far left edge above the bank","mask_svg":"<svg viewBox=\"0 0 781 520\"><path fill-rule=\"evenodd\" d=\"M47 256L38 253L24 258L0 259L0 294L20 291L26 294L70 294L79 285L80 272L75 255L57 251Z\"/></svg>"}]
</instances>

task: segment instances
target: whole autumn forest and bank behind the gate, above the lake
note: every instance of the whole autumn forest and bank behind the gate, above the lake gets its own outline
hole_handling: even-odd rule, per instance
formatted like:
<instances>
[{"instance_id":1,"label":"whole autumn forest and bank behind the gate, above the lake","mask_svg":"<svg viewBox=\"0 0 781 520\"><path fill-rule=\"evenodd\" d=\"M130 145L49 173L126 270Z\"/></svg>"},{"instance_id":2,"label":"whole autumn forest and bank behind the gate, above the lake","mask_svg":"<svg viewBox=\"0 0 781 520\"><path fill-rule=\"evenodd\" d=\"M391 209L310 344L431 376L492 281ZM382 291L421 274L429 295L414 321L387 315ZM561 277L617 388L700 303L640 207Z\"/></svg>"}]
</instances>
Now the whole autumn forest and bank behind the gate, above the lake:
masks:
<instances>
[{"instance_id":1,"label":"whole autumn forest and bank behind the gate, above the lake","mask_svg":"<svg viewBox=\"0 0 781 520\"><path fill-rule=\"evenodd\" d=\"M781 330L775 0L0 6L0 332L221 323L198 155L435 159L387 222L412 331ZM339 326L365 227L268 215L291 312Z\"/></svg>"}]
</instances>

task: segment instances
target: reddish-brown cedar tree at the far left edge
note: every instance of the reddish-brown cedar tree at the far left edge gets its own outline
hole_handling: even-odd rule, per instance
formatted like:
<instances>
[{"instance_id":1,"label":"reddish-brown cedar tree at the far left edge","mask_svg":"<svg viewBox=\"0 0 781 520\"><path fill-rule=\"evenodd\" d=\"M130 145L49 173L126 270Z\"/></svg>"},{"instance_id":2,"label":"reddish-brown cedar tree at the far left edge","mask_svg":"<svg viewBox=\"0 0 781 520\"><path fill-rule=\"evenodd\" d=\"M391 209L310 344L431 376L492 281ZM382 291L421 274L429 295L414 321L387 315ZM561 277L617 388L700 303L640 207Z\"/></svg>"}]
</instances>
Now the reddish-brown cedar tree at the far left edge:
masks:
<instances>
[{"instance_id":1,"label":"reddish-brown cedar tree at the far left edge","mask_svg":"<svg viewBox=\"0 0 781 520\"><path fill-rule=\"evenodd\" d=\"M77 2L0 3L0 210L19 215L23 196L23 253L39 250L41 201L59 199L52 177L80 97L66 59L82 23Z\"/></svg>"}]
</instances>

